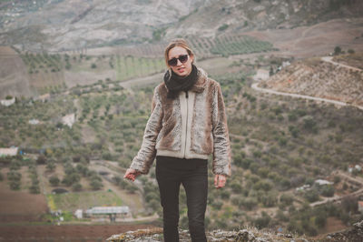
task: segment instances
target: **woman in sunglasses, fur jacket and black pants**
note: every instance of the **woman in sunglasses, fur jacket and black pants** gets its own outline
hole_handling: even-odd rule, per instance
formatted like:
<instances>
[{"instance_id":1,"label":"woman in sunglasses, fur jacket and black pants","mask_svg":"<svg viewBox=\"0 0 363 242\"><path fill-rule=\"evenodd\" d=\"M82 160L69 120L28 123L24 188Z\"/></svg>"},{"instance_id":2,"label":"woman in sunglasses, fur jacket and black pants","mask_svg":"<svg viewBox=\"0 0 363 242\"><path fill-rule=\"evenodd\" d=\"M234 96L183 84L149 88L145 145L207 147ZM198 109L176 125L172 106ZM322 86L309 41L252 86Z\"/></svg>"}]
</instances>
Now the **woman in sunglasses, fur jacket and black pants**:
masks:
<instances>
[{"instance_id":1,"label":"woman in sunglasses, fur jacket and black pants","mask_svg":"<svg viewBox=\"0 0 363 242\"><path fill-rule=\"evenodd\" d=\"M165 49L169 67L156 86L142 147L124 178L147 174L156 156L156 179L163 210L163 235L179 241L179 190L187 196L191 241L207 241L204 216L208 193L208 157L212 154L214 186L231 176L231 146L221 86L194 65L194 54L183 39Z\"/></svg>"}]
</instances>

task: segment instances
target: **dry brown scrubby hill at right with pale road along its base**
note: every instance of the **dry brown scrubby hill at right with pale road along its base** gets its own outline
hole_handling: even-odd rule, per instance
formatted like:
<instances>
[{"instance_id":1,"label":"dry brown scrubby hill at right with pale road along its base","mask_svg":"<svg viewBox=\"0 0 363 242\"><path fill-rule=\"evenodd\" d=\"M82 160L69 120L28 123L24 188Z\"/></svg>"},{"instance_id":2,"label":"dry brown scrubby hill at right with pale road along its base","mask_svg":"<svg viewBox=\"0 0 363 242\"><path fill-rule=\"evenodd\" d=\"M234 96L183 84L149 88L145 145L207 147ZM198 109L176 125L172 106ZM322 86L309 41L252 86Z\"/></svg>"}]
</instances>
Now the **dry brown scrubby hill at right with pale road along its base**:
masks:
<instances>
[{"instance_id":1,"label":"dry brown scrubby hill at right with pale road along its base","mask_svg":"<svg viewBox=\"0 0 363 242\"><path fill-rule=\"evenodd\" d=\"M346 55L352 59L363 54ZM316 96L363 106L363 70L332 62L330 58L310 58L286 66L259 86L280 92Z\"/></svg>"}]
</instances>

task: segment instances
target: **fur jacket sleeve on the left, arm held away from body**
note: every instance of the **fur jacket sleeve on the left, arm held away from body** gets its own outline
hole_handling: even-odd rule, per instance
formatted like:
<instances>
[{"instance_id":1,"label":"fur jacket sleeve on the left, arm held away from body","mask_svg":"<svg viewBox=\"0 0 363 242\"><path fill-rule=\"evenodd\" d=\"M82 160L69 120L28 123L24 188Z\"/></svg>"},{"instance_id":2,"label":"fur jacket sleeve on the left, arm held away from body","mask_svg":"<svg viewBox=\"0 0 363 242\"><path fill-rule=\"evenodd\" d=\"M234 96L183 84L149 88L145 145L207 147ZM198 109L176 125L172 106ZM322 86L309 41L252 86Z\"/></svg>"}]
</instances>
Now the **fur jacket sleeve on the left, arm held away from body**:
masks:
<instances>
[{"instance_id":1,"label":"fur jacket sleeve on the left, arm held away from body","mask_svg":"<svg viewBox=\"0 0 363 242\"><path fill-rule=\"evenodd\" d=\"M142 146L133 158L130 168L147 174L156 156L156 138L162 128L162 102L158 86L154 89L152 97L152 114L147 121L142 139Z\"/></svg>"}]
</instances>

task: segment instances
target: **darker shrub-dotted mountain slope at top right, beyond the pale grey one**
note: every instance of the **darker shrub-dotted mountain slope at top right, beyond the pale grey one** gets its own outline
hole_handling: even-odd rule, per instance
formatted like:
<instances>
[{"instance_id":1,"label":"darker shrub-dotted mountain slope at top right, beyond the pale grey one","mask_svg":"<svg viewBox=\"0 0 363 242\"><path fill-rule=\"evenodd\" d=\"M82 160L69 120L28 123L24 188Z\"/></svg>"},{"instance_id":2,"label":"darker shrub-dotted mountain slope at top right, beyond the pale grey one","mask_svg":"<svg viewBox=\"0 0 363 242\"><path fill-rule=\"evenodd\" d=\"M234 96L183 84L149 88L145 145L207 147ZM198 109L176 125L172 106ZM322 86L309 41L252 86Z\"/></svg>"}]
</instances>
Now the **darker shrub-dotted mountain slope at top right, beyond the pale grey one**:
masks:
<instances>
[{"instance_id":1,"label":"darker shrub-dotted mountain slope at top right, beyond the pale grey one","mask_svg":"<svg viewBox=\"0 0 363 242\"><path fill-rule=\"evenodd\" d=\"M213 5L205 5L185 19L167 34L191 35L199 28L201 34L219 34L221 28L225 32L246 31L251 29L292 28L301 25L314 25L332 18L359 16L362 3L353 1L218 1ZM205 17L207 16L207 17ZM221 31L220 31L221 32ZM200 34L200 33L199 33Z\"/></svg>"}]
</instances>

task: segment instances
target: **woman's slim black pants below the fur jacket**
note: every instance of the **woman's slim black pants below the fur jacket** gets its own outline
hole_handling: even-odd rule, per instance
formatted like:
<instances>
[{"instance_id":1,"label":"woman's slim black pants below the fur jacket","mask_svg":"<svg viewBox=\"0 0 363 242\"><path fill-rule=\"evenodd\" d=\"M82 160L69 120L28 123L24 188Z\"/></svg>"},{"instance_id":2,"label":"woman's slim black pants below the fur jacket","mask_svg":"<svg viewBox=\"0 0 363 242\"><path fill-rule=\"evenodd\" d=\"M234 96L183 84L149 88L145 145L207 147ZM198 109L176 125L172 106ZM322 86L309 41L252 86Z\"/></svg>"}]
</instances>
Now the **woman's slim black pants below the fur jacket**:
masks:
<instances>
[{"instance_id":1,"label":"woman's slim black pants below the fur jacket","mask_svg":"<svg viewBox=\"0 0 363 242\"><path fill-rule=\"evenodd\" d=\"M207 241L204 228L208 195L207 160L157 156L156 179L162 200L164 241L179 241L179 190L181 184L185 188L187 196L191 241Z\"/></svg>"}]
</instances>

